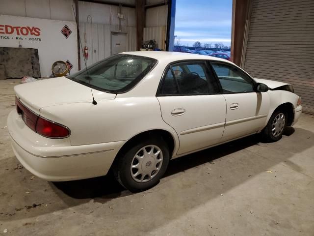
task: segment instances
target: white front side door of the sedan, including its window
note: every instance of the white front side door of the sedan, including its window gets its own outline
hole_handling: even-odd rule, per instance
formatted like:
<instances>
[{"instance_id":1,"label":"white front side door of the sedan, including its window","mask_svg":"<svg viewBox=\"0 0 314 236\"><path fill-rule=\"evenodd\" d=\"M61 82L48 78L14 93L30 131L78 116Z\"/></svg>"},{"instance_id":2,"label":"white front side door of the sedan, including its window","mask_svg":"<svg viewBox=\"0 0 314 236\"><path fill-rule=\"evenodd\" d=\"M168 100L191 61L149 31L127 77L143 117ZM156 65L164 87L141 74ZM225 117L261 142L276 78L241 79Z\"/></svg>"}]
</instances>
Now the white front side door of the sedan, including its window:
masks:
<instances>
[{"instance_id":1,"label":"white front side door of the sedan, including its window","mask_svg":"<svg viewBox=\"0 0 314 236\"><path fill-rule=\"evenodd\" d=\"M226 99L227 114L223 141L252 134L266 122L267 93L256 92L256 82L239 68L221 62L210 63Z\"/></svg>"}]
</instances>

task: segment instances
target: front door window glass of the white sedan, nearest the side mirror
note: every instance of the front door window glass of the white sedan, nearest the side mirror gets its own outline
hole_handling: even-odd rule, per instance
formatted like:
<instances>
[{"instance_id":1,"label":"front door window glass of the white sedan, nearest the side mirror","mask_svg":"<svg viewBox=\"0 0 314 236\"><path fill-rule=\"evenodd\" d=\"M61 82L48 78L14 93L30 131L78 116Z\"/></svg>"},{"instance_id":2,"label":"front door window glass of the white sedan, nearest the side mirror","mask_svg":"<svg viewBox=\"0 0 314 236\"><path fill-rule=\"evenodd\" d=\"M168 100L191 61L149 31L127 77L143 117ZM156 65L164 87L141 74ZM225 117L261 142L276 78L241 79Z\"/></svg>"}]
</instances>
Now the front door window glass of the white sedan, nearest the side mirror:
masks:
<instances>
[{"instance_id":1,"label":"front door window glass of the white sedan, nearest the side mirror","mask_svg":"<svg viewBox=\"0 0 314 236\"><path fill-rule=\"evenodd\" d=\"M221 84L223 93L254 92L253 80L235 66L211 62Z\"/></svg>"}]
</instances>

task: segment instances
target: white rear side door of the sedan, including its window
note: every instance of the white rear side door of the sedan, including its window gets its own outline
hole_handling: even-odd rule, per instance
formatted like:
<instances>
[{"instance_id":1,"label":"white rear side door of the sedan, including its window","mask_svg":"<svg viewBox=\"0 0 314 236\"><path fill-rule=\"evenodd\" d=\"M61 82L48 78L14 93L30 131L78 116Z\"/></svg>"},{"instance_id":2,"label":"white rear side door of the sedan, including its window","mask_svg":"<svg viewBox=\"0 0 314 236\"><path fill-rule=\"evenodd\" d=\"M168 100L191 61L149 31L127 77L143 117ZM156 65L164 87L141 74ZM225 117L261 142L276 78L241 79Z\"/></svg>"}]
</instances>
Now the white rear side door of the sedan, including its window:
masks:
<instances>
[{"instance_id":1,"label":"white rear side door of the sedan, including its window","mask_svg":"<svg viewBox=\"0 0 314 236\"><path fill-rule=\"evenodd\" d=\"M219 143L224 131L226 101L205 61L168 66L157 99L163 120L180 139L177 154Z\"/></svg>"}]
</instances>

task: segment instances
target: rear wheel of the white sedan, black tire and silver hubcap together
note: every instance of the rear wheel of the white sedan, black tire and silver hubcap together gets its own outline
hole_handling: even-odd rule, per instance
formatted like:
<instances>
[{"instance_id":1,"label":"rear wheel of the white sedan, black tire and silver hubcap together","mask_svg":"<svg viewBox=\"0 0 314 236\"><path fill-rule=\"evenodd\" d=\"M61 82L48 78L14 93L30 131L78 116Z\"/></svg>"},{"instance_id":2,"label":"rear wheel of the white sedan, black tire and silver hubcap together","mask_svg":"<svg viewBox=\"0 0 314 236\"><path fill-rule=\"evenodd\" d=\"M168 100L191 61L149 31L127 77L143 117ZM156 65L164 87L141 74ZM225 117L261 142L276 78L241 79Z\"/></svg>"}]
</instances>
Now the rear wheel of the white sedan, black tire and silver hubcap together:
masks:
<instances>
[{"instance_id":1,"label":"rear wheel of the white sedan, black tire and silver hubcap together","mask_svg":"<svg viewBox=\"0 0 314 236\"><path fill-rule=\"evenodd\" d=\"M134 143L117 157L113 172L118 182L131 192L155 186L169 163L169 149L161 138Z\"/></svg>"}]
</instances>

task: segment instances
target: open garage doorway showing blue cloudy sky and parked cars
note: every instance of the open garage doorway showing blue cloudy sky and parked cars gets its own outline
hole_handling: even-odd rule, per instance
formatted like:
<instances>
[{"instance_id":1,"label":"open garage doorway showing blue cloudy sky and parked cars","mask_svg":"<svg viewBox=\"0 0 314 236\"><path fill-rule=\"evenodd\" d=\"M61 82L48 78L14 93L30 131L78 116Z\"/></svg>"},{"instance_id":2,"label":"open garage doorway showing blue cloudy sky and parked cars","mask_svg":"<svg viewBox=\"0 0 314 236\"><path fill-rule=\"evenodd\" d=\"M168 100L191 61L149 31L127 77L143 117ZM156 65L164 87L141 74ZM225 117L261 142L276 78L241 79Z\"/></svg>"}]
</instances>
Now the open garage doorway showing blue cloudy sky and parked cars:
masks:
<instances>
[{"instance_id":1,"label":"open garage doorway showing blue cloudy sky and parked cars","mask_svg":"<svg viewBox=\"0 0 314 236\"><path fill-rule=\"evenodd\" d=\"M232 0L177 0L174 51L230 59Z\"/></svg>"}]
</instances>

